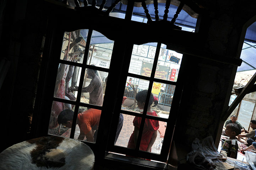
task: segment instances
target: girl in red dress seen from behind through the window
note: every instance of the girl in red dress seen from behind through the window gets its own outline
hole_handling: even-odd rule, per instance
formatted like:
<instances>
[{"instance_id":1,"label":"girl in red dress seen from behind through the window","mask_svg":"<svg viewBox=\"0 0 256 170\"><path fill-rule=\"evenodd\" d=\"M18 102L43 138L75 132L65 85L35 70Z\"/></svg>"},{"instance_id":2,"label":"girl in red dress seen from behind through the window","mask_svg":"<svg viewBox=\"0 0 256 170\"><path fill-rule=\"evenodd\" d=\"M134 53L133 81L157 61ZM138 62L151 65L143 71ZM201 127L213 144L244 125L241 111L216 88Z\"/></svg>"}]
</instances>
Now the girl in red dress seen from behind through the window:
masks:
<instances>
[{"instance_id":1,"label":"girl in red dress seen from behind through the window","mask_svg":"<svg viewBox=\"0 0 256 170\"><path fill-rule=\"evenodd\" d=\"M143 90L138 92L138 94L135 96L138 104L138 108L143 109L145 106L145 101L147 97L147 90ZM150 94L150 99L148 103L148 109L147 114L152 116L157 116L157 113L155 111L151 110L151 105L154 102L154 106L158 104L157 98L153 97L152 93ZM153 107L154 107L153 106ZM131 134L131 137L128 142L127 148L135 148L138 133L141 125L141 117L135 117L133 120L134 124L134 132ZM140 143L140 150L151 152L151 147L153 146L156 138L157 138L157 130L159 128L159 122L158 120L152 120L152 119L146 119L143 132L142 132L142 138Z\"/></svg>"}]
</instances>

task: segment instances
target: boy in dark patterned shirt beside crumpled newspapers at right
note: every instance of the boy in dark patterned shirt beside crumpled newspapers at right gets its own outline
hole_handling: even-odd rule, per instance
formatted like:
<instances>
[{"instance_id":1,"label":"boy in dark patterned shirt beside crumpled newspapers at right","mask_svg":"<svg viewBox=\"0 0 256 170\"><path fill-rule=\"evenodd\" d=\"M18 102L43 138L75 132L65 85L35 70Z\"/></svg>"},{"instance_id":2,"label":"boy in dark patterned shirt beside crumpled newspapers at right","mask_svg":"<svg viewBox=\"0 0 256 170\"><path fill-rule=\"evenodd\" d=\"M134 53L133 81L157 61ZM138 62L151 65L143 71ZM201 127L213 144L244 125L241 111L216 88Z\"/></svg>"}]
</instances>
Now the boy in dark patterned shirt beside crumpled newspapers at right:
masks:
<instances>
[{"instance_id":1,"label":"boy in dark patterned shirt beside crumpled newspapers at right","mask_svg":"<svg viewBox=\"0 0 256 170\"><path fill-rule=\"evenodd\" d=\"M225 140L221 150L226 151L228 157L236 159L238 143L235 137L241 134L241 128L234 123L230 123L226 126L225 133L229 136L229 138Z\"/></svg>"}]
</instances>

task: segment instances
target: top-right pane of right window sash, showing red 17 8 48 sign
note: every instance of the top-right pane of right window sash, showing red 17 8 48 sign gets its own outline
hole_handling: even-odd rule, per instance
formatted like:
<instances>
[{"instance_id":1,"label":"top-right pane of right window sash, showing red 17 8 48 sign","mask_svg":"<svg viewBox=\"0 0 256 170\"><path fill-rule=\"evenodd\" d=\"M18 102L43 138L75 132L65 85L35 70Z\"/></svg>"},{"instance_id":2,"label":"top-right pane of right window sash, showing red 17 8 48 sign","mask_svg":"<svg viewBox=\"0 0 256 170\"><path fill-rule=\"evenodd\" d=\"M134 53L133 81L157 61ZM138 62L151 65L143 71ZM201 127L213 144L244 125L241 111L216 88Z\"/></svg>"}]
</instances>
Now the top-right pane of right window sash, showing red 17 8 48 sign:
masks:
<instances>
[{"instance_id":1,"label":"top-right pane of right window sash, showing red 17 8 48 sign","mask_svg":"<svg viewBox=\"0 0 256 170\"><path fill-rule=\"evenodd\" d=\"M177 81L182 56L181 53L168 50L166 45L161 44L155 78Z\"/></svg>"}]
</instances>

